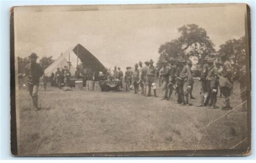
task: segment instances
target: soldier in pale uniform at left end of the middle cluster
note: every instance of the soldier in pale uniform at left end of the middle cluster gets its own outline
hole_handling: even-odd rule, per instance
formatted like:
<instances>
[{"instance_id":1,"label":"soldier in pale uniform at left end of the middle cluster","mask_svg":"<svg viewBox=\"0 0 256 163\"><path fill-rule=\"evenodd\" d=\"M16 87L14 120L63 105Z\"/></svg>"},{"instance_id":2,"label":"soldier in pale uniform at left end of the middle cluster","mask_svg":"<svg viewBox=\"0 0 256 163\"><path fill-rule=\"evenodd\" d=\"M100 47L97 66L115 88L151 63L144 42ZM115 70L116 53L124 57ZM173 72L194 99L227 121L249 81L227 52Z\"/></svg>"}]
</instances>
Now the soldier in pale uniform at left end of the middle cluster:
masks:
<instances>
[{"instance_id":1,"label":"soldier in pale uniform at left end of the middle cluster","mask_svg":"<svg viewBox=\"0 0 256 163\"><path fill-rule=\"evenodd\" d=\"M169 84L169 75L170 75L170 67L167 66L166 60L161 60L162 67L159 71L159 77L163 80L163 98L161 100L168 100L168 84Z\"/></svg>"}]
</instances>

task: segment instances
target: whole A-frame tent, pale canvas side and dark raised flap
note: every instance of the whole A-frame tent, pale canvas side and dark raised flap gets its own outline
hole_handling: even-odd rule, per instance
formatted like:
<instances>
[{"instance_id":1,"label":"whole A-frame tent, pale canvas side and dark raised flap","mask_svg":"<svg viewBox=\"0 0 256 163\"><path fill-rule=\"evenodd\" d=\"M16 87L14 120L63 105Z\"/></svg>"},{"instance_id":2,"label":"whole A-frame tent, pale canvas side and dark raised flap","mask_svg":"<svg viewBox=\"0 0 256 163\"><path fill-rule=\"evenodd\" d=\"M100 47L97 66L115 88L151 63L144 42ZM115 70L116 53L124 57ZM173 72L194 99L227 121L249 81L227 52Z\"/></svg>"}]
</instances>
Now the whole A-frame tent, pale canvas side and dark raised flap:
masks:
<instances>
[{"instance_id":1,"label":"whole A-frame tent, pale canvas side and dark raised flap","mask_svg":"<svg viewBox=\"0 0 256 163\"><path fill-rule=\"evenodd\" d=\"M85 49L84 46L77 44L60 55L55 62L44 70L44 73L45 76L50 77L51 73L55 73L58 67L62 69L64 66L70 66L71 74L75 74L75 67L80 63L83 63L86 67L90 67L92 71L103 71L105 69L103 64L91 52Z\"/></svg>"}]
</instances>

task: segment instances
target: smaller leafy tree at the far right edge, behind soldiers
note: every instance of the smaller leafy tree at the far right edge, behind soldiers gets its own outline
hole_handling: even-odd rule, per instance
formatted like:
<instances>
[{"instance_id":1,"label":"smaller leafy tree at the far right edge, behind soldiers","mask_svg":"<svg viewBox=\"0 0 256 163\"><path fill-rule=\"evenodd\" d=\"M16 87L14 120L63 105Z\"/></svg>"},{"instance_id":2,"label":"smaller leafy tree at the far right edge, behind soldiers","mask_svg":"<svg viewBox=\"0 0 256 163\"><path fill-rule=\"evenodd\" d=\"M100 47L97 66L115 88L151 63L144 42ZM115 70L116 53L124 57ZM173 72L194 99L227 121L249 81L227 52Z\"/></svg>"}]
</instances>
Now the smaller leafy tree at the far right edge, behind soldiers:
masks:
<instances>
[{"instance_id":1,"label":"smaller leafy tree at the far right edge, behind soldiers","mask_svg":"<svg viewBox=\"0 0 256 163\"><path fill-rule=\"evenodd\" d=\"M223 52L232 57L235 65L244 65L246 57L245 47L245 36L242 36L239 39L227 40L225 44L220 45L218 53Z\"/></svg>"}]
</instances>

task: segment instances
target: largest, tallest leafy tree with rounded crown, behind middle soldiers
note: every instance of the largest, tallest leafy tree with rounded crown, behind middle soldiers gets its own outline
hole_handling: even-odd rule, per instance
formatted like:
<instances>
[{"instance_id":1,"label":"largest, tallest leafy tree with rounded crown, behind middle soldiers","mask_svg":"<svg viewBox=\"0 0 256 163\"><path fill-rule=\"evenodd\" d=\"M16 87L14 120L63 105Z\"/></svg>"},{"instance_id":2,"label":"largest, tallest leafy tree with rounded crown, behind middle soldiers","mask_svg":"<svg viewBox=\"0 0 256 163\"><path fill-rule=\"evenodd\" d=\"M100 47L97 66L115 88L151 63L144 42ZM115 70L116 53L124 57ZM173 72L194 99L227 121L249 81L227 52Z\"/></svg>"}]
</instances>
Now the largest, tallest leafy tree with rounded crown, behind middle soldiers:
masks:
<instances>
[{"instance_id":1,"label":"largest, tallest leafy tree with rounded crown, behind middle soldiers","mask_svg":"<svg viewBox=\"0 0 256 163\"><path fill-rule=\"evenodd\" d=\"M165 57L184 57L186 59L197 57L198 63L201 64L205 56L214 55L214 44L207 36L204 28L200 28L196 24L188 24L178 28L178 32L180 32L179 38L166 42L159 47L158 52L161 56L165 51ZM161 56L159 59L163 59Z\"/></svg>"}]
</instances>

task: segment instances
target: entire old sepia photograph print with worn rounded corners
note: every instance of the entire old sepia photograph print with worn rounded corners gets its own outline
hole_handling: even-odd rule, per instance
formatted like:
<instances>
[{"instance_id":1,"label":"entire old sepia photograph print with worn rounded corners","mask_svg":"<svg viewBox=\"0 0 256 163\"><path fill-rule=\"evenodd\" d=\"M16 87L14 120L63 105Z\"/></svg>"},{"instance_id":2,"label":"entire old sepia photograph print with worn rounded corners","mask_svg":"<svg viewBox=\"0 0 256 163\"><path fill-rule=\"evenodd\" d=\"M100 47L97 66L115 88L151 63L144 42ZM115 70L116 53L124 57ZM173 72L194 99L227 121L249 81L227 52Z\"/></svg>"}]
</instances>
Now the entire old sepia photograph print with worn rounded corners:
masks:
<instances>
[{"instance_id":1,"label":"entire old sepia photograph print with worn rounded corners","mask_svg":"<svg viewBox=\"0 0 256 163\"><path fill-rule=\"evenodd\" d=\"M248 5L10 12L12 155L250 154Z\"/></svg>"}]
</instances>

